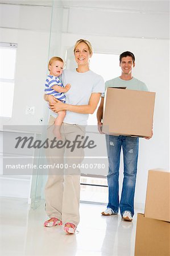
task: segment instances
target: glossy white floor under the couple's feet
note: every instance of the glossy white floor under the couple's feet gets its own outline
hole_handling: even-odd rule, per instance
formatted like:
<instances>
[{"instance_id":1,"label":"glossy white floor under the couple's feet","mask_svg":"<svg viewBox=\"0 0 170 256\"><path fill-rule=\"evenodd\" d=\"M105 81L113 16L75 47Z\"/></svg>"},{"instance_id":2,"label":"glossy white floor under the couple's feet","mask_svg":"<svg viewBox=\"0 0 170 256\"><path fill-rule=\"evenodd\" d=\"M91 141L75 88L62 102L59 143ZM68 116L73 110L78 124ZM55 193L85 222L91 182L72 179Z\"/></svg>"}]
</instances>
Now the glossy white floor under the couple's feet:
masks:
<instances>
[{"instance_id":1,"label":"glossy white floor under the couple's feet","mask_svg":"<svg viewBox=\"0 0 170 256\"><path fill-rule=\"evenodd\" d=\"M127 222L120 215L101 216L103 205L80 204L78 232L67 235L62 226L43 226L47 219L43 205L33 210L27 200L7 197L0 203L3 256L134 255L136 214L132 222Z\"/></svg>"}]
</instances>

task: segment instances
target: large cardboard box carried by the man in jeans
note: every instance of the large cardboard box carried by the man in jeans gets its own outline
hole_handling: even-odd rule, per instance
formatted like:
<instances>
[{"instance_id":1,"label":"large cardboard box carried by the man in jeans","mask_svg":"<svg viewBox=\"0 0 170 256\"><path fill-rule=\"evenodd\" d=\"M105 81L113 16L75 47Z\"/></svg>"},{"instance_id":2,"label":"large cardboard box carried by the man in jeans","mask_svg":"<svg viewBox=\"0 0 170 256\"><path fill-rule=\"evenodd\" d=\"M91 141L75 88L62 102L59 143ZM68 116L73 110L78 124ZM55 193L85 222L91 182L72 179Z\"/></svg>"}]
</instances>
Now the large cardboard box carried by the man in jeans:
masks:
<instances>
[{"instance_id":1,"label":"large cardboard box carried by the man in jeans","mask_svg":"<svg viewBox=\"0 0 170 256\"><path fill-rule=\"evenodd\" d=\"M103 108L103 133L150 137L155 93L107 88Z\"/></svg>"}]
</instances>

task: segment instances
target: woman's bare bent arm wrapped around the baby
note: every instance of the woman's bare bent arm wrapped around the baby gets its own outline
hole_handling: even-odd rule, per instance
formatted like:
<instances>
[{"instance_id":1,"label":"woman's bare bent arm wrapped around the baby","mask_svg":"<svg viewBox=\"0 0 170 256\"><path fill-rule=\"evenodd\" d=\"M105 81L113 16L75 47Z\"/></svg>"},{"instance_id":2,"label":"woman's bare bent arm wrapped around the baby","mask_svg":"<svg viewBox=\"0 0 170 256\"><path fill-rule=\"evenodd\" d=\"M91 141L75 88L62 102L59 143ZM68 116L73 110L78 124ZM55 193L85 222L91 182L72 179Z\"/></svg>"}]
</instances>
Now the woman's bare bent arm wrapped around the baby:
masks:
<instances>
[{"instance_id":1,"label":"woman's bare bent arm wrapped around the baby","mask_svg":"<svg viewBox=\"0 0 170 256\"><path fill-rule=\"evenodd\" d=\"M65 104L61 101L57 101L56 103L50 103L49 107L53 112L59 112L61 110L69 110L71 112L80 113L80 114L93 114L97 108L99 98L101 97L101 93L92 93L90 96L88 105L70 105Z\"/></svg>"}]
</instances>

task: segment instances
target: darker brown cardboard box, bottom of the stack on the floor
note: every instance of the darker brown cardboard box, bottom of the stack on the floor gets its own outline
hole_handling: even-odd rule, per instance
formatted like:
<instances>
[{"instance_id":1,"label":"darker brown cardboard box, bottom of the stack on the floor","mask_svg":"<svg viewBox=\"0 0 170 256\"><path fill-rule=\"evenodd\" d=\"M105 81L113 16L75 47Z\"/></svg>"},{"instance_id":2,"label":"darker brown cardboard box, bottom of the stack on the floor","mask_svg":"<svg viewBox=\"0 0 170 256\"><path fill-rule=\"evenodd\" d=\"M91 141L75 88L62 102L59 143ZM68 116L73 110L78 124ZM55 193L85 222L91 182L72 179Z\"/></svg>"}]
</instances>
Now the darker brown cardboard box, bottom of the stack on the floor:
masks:
<instances>
[{"instance_id":1,"label":"darker brown cardboard box, bottom of the stack on the floor","mask_svg":"<svg viewBox=\"0 0 170 256\"><path fill-rule=\"evenodd\" d=\"M138 213L135 256L169 256L170 223Z\"/></svg>"}]
</instances>

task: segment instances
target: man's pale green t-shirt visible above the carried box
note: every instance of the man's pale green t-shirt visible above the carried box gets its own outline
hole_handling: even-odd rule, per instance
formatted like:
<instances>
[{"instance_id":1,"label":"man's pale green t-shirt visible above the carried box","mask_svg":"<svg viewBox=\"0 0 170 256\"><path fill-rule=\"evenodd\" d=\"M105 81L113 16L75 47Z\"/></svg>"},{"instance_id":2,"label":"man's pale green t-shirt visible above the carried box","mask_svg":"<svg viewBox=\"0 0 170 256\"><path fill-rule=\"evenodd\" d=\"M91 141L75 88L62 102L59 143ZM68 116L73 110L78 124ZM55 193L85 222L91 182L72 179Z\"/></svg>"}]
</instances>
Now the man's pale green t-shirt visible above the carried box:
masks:
<instances>
[{"instance_id":1,"label":"man's pale green t-shirt visible above the carried box","mask_svg":"<svg viewBox=\"0 0 170 256\"><path fill-rule=\"evenodd\" d=\"M122 80L120 77L116 77L105 82L105 90L107 87L126 87L127 90L143 90L148 92L146 84L135 77L132 77L131 80ZM105 93L102 93L102 97L104 96Z\"/></svg>"}]
</instances>

